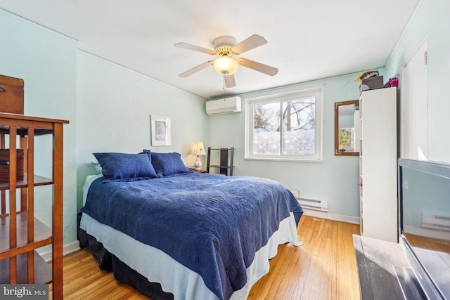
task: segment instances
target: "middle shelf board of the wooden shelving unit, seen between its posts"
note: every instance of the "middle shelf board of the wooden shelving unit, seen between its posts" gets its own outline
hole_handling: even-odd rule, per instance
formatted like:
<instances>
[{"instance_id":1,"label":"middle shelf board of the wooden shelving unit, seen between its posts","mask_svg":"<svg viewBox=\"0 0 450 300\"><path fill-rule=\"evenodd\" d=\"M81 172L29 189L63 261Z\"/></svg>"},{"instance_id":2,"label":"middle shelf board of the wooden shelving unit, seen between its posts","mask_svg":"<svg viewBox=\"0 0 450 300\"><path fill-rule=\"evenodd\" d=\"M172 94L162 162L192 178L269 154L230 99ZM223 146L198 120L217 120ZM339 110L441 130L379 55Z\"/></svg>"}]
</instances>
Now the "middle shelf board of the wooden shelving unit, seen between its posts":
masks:
<instances>
[{"instance_id":1,"label":"middle shelf board of the wooden shelving unit, seen between its posts","mask_svg":"<svg viewBox=\"0 0 450 300\"><path fill-rule=\"evenodd\" d=\"M16 230L17 230L17 248L24 247L27 245L27 226L28 226L28 216L27 212L17 214L16 219ZM9 256L5 252L10 250L9 247L9 216L0 217L0 259L4 259ZM51 228L48 228L41 221L34 218L34 242L41 244L40 247L46 244L51 244Z\"/></svg>"}]
</instances>

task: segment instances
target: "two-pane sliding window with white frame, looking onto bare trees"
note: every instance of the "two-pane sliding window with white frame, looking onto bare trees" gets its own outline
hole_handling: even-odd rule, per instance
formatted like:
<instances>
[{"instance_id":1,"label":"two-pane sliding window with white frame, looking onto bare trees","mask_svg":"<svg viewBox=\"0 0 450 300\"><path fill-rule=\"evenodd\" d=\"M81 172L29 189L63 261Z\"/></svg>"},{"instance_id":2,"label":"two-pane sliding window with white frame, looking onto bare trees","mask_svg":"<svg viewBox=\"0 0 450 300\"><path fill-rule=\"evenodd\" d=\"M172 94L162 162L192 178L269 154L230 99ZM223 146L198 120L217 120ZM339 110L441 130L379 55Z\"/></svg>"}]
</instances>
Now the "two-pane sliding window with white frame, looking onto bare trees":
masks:
<instances>
[{"instance_id":1,"label":"two-pane sliding window with white frame, looking onto bare trees","mask_svg":"<svg viewBox=\"0 0 450 300\"><path fill-rule=\"evenodd\" d=\"M246 159L322 159L322 89L249 98L246 105Z\"/></svg>"}]
</instances>

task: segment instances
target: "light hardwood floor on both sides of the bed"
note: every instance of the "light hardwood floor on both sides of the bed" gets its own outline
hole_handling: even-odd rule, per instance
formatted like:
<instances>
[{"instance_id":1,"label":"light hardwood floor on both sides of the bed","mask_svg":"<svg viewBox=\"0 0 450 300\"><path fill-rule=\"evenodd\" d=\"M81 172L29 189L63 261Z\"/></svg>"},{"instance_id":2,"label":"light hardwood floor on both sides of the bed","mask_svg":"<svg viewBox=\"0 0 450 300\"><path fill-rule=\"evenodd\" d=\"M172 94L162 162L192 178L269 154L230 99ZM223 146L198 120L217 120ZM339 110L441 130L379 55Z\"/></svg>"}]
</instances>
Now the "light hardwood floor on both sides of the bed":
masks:
<instances>
[{"instance_id":1,"label":"light hardwood floor on both sides of the bed","mask_svg":"<svg viewBox=\"0 0 450 300\"><path fill-rule=\"evenodd\" d=\"M302 216L297 233L304 244L280 245L248 299L360 299L352 240L359 226ZM88 249L65 256L63 272L65 300L147 299L100 270Z\"/></svg>"}]
</instances>

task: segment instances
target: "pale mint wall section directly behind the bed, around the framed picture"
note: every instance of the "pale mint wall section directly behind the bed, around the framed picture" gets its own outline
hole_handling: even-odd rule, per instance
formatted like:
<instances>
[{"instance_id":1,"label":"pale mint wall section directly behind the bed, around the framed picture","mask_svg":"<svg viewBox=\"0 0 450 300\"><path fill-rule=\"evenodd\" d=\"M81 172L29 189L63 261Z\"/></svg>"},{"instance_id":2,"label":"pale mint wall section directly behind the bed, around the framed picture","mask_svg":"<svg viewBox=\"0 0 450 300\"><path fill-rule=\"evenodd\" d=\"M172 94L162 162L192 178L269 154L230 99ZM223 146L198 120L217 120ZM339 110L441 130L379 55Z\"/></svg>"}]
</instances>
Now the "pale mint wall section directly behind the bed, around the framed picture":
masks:
<instances>
[{"instance_id":1,"label":"pale mint wall section directly behind the bed, around the framed picture","mask_svg":"<svg viewBox=\"0 0 450 300\"><path fill-rule=\"evenodd\" d=\"M193 142L207 132L203 98L83 51L77 65L78 207L93 152L179 152L193 165ZM171 146L151 146L150 115L170 117Z\"/></svg>"}]
</instances>

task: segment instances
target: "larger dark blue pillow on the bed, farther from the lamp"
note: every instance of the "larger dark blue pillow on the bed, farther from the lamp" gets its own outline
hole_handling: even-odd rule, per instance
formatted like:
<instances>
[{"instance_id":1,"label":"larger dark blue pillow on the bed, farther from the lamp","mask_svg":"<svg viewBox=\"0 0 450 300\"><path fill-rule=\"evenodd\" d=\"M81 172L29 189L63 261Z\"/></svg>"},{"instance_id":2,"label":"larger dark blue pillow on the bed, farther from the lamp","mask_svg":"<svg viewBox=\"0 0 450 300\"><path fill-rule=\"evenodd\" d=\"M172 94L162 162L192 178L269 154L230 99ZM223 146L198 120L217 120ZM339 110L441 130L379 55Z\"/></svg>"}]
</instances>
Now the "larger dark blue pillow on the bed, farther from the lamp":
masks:
<instances>
[{"instance_id":1,"label":"larger dark blue pillow on the bed, farther from the lamp","mask_svg":"<svg viewBox=\"0 0 450 300\"><path fill-rule=\"evenodd\" d=\"M94 153L105 180L136 181L158 177L146 153Z\"/></svg>"}]
</instances>

